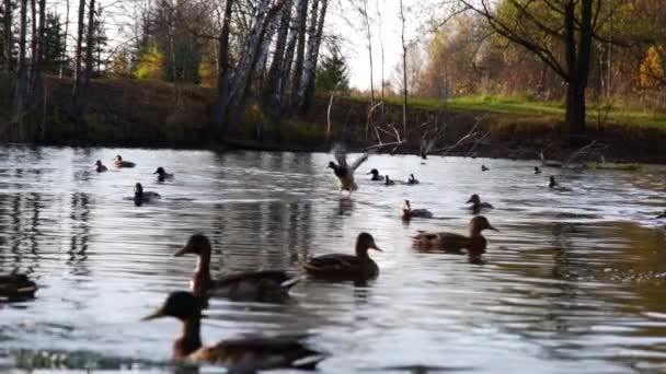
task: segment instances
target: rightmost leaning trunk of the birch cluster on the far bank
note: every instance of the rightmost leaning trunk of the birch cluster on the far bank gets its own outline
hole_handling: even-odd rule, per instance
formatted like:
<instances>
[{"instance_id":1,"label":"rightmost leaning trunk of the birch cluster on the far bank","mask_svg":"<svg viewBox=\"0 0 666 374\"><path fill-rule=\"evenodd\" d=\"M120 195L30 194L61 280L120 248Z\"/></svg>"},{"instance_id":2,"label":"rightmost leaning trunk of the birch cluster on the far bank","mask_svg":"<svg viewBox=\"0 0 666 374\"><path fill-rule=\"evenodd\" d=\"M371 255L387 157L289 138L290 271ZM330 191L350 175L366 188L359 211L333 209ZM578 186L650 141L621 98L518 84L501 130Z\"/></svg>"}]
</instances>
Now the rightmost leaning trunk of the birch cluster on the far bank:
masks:
<instances>
[{"instance_id":1,"label":"rightmost leaning trunk of the birch cluster on the far bank","mask_svg":"<svg viewBox=\"0 0 666 374\"><path fill-rule=\"evenodd\" d=\"M323 35L324 20L326 16L328 0L321 2L321 11L318 13L317 2L312 3L312 27L308 39L308 55L303 62L303 74L298 90L298 108L301 113L308 112L314 98L314 78L317 72L317 60L319 59L319 47Z\"/></svg>"}]
</instances>

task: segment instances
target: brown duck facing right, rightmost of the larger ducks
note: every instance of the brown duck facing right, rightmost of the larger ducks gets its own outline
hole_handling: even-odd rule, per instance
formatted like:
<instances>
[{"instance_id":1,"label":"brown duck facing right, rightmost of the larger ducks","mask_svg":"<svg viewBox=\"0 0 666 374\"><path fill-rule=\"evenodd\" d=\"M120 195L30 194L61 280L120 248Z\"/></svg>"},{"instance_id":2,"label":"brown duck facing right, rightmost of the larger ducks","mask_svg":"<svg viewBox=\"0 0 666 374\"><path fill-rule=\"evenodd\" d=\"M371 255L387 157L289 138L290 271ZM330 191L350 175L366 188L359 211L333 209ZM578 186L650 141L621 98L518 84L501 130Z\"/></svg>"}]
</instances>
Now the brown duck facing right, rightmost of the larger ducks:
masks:
<instances>
[{"instance_id":1,"label":"brown duck facing right, rightmost of the larger ducks","mask_svg":"<svg viewBox=\"0 0 666 374\"><path fill-rule=\"evenodd\" d=\"M476 215L470 221L470 236L464 236L453 233L428 233L418 232L414 239L414 247L421 250L444 250L458 252L467 249L468 254L479 256L485 252L486 241L481 232L484 230L494 230L487 219L483 215Z\"/></svg>"}]
</instances>

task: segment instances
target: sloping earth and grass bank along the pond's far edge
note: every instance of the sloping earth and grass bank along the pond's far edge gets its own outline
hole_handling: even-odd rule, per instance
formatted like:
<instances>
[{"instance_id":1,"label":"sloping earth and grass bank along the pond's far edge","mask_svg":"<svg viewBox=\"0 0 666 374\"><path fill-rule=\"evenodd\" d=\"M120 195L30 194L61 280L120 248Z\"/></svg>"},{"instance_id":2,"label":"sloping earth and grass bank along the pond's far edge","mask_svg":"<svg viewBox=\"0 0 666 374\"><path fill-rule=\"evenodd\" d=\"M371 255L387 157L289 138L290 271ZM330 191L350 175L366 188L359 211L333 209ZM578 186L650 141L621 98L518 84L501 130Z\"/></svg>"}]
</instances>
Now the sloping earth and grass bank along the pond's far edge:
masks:
<instances>
[{"instance_id":1,"label":"sloping earth and grass bank along the pond's far edge","mask_svg":"<svg viewBox=\"0 0 666 374\"><path fill-rule=\"evenodd\" d=\"M570 139L562 130L563 108L558 104L494 97L414 101L405 137L398 102L389 100L368 115L370 106L365 100L321 97L308 115L285 116L280 122L249 105L242 124L231 126L229 141L219 144L211 141L207 125L213 89L94 80L81 130L68 116L70 83L48 78L45 87L41 115L22 129L3 126L0 139L55 145L284 151L328 151L343 141L352 150L376 148L394 153L420 153L427 144L430 154L538 159L543 153L560 161L574 156L666 163L666 116L609 107L592 107L586 137Z\"/></svg>"}]
</instances>

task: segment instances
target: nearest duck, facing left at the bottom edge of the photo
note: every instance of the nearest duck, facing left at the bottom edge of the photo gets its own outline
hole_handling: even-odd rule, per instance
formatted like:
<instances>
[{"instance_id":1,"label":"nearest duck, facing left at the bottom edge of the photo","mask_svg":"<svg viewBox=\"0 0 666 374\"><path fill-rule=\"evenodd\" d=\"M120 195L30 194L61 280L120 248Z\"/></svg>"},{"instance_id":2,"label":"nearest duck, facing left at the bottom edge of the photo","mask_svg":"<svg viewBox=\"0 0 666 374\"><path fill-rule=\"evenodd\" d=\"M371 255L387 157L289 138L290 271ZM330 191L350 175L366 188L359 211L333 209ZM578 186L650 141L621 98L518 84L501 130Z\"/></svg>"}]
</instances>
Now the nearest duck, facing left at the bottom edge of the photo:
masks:
<instances>
[{"instance_id":1,"label":"nearest duck, facing left at the bottom edge of the photo","mask_svg":"<svg viewBox=\"0 0 666 374\"><path fill-rule=\"evenodd\" d=\"M205 297L187 291L175 291L169 294L161 307L142 320L177 318L183 329L173 343L173 360L226 365L230 373L255 373L272 369L314 370L324 359L323 353L303 344L302 340L308 335L244 336L205 347L200 326L202 311L206 305Z\"/></svg>"}]
</instances>

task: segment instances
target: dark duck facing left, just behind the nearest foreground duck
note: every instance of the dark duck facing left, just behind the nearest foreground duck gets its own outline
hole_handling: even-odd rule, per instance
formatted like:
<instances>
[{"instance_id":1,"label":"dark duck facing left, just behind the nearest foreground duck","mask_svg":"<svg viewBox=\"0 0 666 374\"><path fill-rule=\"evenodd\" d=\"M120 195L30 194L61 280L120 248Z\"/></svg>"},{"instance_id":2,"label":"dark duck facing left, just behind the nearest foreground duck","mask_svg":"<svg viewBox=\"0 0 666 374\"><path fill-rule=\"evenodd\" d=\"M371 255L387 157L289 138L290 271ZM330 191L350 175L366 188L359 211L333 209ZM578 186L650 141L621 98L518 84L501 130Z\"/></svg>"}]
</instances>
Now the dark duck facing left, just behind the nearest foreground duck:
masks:
<instances>
[{"instance_id":1,"label":"dark duck facing left, just behind the nearest foreground duck","mask_svg":"<svg viewBox=\"0 0 666 374\"><path fill-rule=\"evenodd\" d=\"M196 268L190 282L192 292L197 296L220 296L233 301L282 301L288 296L289 289L301 279L283 270L246 271L213 279L211 248L206 235L194 234L190 236L187 244L173 254L174 257L197 256Z\"/></svg>"}]
</instances>

